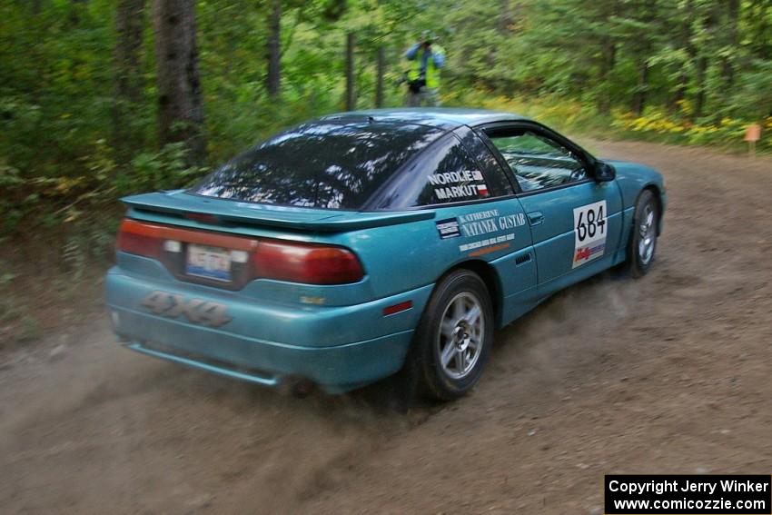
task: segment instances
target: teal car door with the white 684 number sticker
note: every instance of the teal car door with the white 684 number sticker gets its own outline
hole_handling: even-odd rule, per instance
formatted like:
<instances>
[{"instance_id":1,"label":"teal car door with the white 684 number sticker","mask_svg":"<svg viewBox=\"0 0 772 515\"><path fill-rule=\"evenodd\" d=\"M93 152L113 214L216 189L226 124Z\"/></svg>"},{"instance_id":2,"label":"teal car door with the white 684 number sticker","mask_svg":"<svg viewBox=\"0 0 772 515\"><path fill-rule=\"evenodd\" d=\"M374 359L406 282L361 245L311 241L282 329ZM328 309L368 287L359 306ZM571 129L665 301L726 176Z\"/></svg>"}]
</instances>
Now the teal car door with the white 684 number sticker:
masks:
<instances>
[{"instance_id":1,"label":"teal car door with the white 684 number sticker","mask_svg":"<svg viewBox=\"0 0 772 515\"><path fill-rule=\"evenodd\" d=\"M539 124L495 124L482 132L520 189L539 293L608 268L622 227L617 183L597 182L589 155Z\"/></svg>"}]
</instances>

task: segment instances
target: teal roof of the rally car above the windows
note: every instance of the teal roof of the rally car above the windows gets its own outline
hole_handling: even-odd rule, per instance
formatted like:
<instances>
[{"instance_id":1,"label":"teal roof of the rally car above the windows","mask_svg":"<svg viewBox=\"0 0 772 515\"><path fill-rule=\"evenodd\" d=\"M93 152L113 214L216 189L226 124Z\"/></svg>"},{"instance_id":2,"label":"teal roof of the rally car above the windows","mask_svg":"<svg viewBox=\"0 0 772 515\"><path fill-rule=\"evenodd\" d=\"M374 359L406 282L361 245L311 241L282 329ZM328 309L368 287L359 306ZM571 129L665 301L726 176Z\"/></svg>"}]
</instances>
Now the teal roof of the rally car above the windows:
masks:
<instances>
[{"instance_id":1,"label":"teal roof of the rally car above the windows","mask_svg":"<svg viewBox=\"0 0 772 515\"><path fill-rule=\"evenodd\" d=\"M530 120L519 114L490 111L488 109L460 109L450 107L402 107L395 109L368 109L349 111L346 113L328 114L319 118L320 121L335 120L345 123L361 121L362 118L373 119L376 122L393 122L399 124L430 125L440 129L453 130L461 125L480 125L491 122Z\"/></svg>"}]
</instances>

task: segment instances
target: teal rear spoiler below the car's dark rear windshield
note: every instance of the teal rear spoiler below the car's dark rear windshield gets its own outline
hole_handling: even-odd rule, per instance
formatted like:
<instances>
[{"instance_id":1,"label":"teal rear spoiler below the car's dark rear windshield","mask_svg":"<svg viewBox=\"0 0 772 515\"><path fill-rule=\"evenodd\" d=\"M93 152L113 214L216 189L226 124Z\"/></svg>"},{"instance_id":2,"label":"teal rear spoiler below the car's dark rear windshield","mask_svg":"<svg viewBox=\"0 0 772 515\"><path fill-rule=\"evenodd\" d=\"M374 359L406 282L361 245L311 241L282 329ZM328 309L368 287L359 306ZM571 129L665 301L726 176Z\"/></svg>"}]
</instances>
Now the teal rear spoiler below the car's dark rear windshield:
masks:
<instances>
[{"instance_id":1,"label":"teal rear spoiler below the car's dark rear windshield","mask_svg":"<svg viewBox=\"0 0 772 515\"><path fill-rule=\"evenodd\" d=\"M130 217L149 222L163 223L163 219L168 219L167 223L178 223L178 220L186 220L213 225L261 225L324 233L417 222L435 216L433 210L354 212L243 203L193 195L182 190L134 195L124 197L121 202L129 207Z\"/></svg>"}]
</instances>

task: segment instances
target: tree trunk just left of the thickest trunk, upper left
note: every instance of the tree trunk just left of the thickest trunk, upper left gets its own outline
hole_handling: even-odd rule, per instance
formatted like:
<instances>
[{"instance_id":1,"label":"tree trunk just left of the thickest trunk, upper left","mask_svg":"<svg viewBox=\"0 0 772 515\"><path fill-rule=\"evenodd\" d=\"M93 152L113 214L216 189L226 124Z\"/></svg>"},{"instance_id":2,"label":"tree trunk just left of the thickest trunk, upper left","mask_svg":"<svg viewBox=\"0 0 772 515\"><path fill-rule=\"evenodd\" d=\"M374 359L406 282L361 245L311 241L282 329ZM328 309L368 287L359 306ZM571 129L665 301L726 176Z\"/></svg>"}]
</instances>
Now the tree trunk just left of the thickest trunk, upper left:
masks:
<instances>
[{"instance_id":1,"label":"tree trunk just left of the thickest trunk, upper left","mask_svg":"<svg viewBox=\"0 0 772 515\"><path fill-rule=\"evenodd\" d=\"M114 146L122 151L134 144L131 116L142 101L142 44L145 0L119 0L115 16Z\"/></svg>"}]
</instances>

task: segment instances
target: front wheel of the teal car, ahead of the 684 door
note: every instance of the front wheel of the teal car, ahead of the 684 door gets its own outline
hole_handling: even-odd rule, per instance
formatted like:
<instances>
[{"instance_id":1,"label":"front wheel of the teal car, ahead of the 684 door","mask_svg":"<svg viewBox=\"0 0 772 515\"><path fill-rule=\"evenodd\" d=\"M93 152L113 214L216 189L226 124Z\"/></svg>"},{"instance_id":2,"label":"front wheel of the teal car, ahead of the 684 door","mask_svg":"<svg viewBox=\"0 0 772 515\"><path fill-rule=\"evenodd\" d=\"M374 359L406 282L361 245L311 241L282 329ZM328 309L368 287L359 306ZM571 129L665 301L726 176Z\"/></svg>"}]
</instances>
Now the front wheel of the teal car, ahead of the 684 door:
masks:
<instances>
[{"instance_id":1,"label":"front wheel of the teal car, ahead of the 684 door","mask_svg":"<svg viewBox=\"0 0 772 515\"><path fill-rule=\"evenodd\" d=\"M654 262L657 251L659 227L659 201L651 190L638 196L633 216L632 234L628 246L628 258L624 270L634 278L643 277Z\"/></svg>"}]
</instances>

